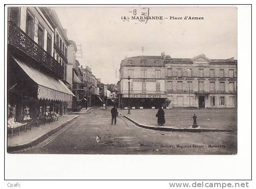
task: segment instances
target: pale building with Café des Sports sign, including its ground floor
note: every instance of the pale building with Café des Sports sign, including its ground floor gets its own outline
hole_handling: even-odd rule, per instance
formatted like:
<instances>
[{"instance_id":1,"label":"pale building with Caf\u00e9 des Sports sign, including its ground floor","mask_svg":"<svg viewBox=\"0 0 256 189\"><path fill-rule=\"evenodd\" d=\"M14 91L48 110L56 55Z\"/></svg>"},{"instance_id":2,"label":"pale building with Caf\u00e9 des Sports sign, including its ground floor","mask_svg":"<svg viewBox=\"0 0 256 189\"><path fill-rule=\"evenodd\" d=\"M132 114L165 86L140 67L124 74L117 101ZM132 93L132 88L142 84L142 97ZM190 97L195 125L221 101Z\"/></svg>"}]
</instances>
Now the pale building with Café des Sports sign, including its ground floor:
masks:
<instances>
[{"instance_id":1,"label":"pale building with Caf\u00e9 des Sports sign, including its ground floor","mask_svg":"<svg viewBox=\"0 0 256 189\"><path fill-rule=\"evenodd\" d=\"M120 65L118 104L128 107L128 77L130 78L130 107L160 107L166 103L165 64L166 56L135 56L125 58Z\"/></svg>"}]
</instances>

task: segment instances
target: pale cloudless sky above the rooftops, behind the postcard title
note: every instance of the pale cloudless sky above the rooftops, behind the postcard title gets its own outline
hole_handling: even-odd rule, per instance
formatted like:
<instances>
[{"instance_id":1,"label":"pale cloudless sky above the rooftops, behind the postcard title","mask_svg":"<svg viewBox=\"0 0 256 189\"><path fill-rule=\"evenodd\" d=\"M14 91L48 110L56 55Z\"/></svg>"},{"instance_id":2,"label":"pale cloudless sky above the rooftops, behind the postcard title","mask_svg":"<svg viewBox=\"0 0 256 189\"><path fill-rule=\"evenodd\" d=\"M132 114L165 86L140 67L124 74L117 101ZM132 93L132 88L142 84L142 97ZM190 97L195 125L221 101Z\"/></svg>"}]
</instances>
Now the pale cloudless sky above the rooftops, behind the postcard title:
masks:
<instances>
[{"instance_id":1,"label":"pale cloudless sky above the rooftops, behind the postcard title","mask_svg":"<svg viewBox=\"0 0 256 189\"><path fill-rule=\"evenodd\" d=\"M82 45L83 67L91 66L101 82L119 80L125 56L160 55L210 59L237 59L237 8L150 7L149 16L204 17L203 20L131 20L129 7L54 7L67 35ZM136 16L141 16L136 7ZM143 11L144 12L144 11ZM123 21L122 16L129 16ZM143 52L142 52L143 46Z\"/></svg>"}]
</instances>

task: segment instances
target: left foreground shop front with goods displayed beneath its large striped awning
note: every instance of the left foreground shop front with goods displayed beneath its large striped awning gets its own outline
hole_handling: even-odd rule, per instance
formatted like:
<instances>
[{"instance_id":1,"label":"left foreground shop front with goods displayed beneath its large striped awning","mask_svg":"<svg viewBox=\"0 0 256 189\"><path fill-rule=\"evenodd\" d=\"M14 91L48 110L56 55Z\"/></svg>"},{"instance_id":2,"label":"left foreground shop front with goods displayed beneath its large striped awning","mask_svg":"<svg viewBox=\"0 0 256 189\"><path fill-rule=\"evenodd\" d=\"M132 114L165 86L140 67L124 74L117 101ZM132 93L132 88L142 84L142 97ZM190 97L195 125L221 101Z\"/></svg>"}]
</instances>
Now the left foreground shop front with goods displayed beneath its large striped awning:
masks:
<instances>
[{"instance_id":1,"label":"left foreground shop front with goods displayed beneath its large striped awning","mask_svg":"<svg viewBox=\"0 0 256 189\"><path fill-rule=\"evenodd\" d=\"M21 57L8 57L7 114L17 122L27 118L36 120L48 114L66 114L72 96L74 94L61 80Z\"/></svg>"}]
</instances>

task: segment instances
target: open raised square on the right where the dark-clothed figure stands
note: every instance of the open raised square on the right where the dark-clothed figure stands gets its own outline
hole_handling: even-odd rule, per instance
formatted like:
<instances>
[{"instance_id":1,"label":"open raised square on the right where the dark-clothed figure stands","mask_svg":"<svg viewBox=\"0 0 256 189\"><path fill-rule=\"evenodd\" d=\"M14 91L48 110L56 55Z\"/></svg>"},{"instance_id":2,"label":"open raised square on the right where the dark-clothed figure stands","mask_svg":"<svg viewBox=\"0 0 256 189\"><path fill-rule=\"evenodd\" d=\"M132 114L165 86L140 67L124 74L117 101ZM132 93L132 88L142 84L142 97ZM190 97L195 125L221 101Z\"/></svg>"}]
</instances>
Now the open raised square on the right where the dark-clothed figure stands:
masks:
<instances>
[{"instance_id":1,"label":"open raised square on the right where the dark-clothed figure stands","mask_svg":"<svg viewBox=\"0 0 256 189\"><path fill-rule=\"evenodd\" d=\"M178 132L234 132L237 130L237 110L164 110L166 124L158 126L157 110L118 110L119 113L139 127L161 131ZM198 116L199 128L191 128L192 115Z\"/></svg>"}]
</instances>

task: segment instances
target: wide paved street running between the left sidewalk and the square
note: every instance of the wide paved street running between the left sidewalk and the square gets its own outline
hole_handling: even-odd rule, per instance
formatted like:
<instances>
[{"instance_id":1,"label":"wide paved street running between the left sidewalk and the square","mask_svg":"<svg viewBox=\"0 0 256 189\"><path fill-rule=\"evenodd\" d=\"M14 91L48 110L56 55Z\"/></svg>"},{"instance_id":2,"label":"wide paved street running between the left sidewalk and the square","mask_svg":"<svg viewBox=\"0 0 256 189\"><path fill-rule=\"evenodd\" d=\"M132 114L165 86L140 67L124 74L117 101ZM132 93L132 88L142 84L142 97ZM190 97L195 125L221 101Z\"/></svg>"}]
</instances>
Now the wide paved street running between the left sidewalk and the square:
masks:
<instances>
[{"instance_id":1,"label":"wide paved street running between the left sidewalk and the square","mask_svg":"<svg viewBox=\"0 0 256 189\"><path fill-rule=\"evenodd\" d=\"M108 107L108 110L95 108L90 110L89 114L80 114L75 121L38 145L13 153L235 154L237 152L236 132L155 131L137 127L123 117L118 117L117 124L111 125L110 108ZM98 134L101 137L99 142L96 141ZM208 145L223 146L210 148Z\"/></svg>"}]
</instances>

